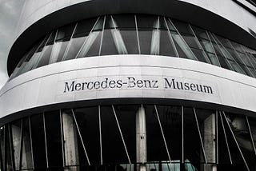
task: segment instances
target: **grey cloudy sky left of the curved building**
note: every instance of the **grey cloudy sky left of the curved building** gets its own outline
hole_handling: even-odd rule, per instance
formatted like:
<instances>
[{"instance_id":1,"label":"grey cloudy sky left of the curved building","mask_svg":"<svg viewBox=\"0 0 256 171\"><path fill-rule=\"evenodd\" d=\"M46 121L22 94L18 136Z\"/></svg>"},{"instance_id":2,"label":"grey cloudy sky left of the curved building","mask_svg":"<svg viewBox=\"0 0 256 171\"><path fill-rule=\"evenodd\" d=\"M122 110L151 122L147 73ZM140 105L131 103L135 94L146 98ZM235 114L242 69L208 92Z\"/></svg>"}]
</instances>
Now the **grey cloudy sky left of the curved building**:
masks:
<instances>
[{"instance_id":1,"label":"grey cloudy sky left of the curved building","mask_svg":"<svg viewBox=\"0 0 256 171\"><path fill-rule=\"evenodd\" d=\"M22 13L25 0L0 0L0 89L8 79L6 62L8 52Z\"/></svg>"}]
</instances>

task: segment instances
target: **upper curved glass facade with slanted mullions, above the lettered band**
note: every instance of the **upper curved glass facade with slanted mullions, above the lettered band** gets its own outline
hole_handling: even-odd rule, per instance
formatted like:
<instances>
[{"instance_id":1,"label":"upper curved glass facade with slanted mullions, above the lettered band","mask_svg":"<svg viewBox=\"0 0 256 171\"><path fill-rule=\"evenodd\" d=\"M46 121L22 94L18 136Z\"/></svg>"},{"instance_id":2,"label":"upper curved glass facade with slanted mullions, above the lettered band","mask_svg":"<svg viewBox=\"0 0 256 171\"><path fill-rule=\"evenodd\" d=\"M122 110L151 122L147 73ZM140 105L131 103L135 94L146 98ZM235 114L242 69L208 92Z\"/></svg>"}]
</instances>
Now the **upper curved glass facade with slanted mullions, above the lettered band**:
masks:
<instances>
[{"instance_id":1,"label":"upper curved glass facade with slanted mullions, above the lettered band","mask_svg":"<svg viewBox=\"0 0 256 171\"><path fill-rule=\"evenodd\" d=\"M162 16L115 14L53 30L30 48L10 79L51 63L110 54L187 58L256 78L256 50L186 22Z\"/></svg>"}]
</instances>

